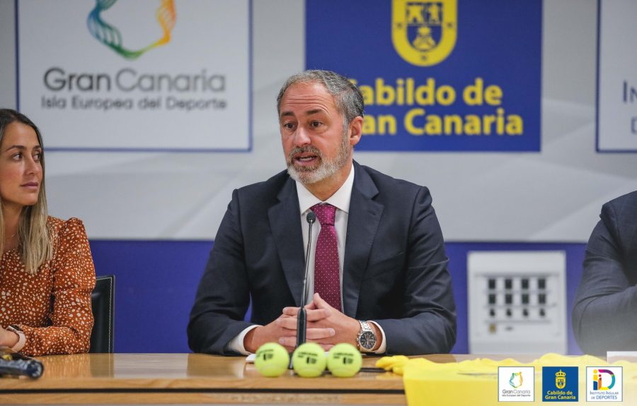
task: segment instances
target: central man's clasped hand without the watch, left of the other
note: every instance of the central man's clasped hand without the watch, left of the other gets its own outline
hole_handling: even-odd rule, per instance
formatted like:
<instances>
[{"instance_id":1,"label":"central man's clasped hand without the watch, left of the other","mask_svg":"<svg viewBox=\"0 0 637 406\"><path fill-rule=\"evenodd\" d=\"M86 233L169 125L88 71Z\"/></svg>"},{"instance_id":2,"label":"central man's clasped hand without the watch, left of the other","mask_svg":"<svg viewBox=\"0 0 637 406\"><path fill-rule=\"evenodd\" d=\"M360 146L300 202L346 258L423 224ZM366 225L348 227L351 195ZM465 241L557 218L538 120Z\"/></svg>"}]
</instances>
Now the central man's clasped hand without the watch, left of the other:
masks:
<instances>
[{"instance_id":1,"label":"central man's clasped hand without the watch, left of the other","mask_svg":"<svg viewBox=\"0 0 637 406\"><path fill-rule=\"evenodd\" d=\"M306 331L306 338L308 341L313 340L325 340L335 334L335 330L330 327L326 328L310 328L311 321L317 321L329 316L329 311L326 309L312 309L309 310L309 304L306 307L306 318L308 321L308 328ZM258 347L266 342L278 342L283 345L289 352L294 351L294 347L297 345L297 313L298 307L285 307L283 314L279 316L275 321L265 326L258 326L248 331L246 337L243 338L243 347L248 352L256 352Z\"/></svg>"}]
</instances>

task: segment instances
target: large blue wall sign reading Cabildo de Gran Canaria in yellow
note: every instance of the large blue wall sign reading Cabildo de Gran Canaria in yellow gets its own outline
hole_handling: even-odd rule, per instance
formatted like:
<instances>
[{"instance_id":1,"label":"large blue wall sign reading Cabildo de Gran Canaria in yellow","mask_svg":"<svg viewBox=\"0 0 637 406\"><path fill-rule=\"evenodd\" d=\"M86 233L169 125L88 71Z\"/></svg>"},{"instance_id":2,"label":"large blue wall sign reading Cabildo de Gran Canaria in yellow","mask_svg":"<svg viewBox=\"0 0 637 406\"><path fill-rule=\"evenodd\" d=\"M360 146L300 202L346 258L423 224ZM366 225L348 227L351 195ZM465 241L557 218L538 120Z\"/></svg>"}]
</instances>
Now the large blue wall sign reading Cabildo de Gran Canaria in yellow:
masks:
<instances>
[{"instance_id":1,"label":"large blue wall sign reading Cabildo de Gran Canaria in yellow","mask_svg":"<svg viewBox=\"0 0 637 406\"><path fill-rule=\"evenodd\" d=\"M306 67L360 88L357 150L539 151L541 4L307 0Z\"/></svg>"}]
</instances>

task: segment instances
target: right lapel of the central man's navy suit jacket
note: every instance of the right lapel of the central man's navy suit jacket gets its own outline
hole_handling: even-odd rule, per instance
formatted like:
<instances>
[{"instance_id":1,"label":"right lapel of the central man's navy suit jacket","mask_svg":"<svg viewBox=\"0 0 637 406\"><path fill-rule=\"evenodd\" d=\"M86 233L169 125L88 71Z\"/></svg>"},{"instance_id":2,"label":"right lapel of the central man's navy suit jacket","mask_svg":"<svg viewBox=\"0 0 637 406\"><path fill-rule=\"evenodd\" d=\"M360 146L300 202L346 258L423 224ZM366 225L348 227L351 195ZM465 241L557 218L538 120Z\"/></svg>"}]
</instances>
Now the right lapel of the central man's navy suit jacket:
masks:
<instances>
[{"instance_id":1,"label":"right lapel of the central man's navy suit jacket","mask_svg":"<svg viewBox=\"0 0 637 406\"><path fill-rule=\"evenodd\" d=\"M372 200L378 194L372 178L357 162L354 170L343 261L343 313L350 317L356 317L360 285L384 210L383 205Z\"/></svg>"}]
</instances>

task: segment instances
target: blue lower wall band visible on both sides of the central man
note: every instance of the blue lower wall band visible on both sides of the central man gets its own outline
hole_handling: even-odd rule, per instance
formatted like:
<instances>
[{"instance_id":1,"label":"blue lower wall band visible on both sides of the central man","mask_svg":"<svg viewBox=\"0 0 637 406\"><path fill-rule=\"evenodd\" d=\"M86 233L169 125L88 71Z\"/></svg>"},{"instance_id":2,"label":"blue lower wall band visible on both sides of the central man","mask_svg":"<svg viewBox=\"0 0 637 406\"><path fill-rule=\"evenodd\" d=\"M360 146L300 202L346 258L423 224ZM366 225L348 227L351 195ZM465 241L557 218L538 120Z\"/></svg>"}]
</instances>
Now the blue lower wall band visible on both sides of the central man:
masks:
<instances>
[{"instance_id":1,"label":"blue lower wall band visible on both sides of the central man","mask_svg":"<svg viewBox=\"0 0 637 406\"><path fill-rule=\"evenodd\" d=\"M116 275L115 352L190 352L188 314L203 273L210 241L91 240L98 275ZM570 311L582 273L585 244L447 243L458 314L453 352L467 342L466 254L468 251L566 251L568 352L580 354L570 327Z\"/></svg>"}]
</instances>

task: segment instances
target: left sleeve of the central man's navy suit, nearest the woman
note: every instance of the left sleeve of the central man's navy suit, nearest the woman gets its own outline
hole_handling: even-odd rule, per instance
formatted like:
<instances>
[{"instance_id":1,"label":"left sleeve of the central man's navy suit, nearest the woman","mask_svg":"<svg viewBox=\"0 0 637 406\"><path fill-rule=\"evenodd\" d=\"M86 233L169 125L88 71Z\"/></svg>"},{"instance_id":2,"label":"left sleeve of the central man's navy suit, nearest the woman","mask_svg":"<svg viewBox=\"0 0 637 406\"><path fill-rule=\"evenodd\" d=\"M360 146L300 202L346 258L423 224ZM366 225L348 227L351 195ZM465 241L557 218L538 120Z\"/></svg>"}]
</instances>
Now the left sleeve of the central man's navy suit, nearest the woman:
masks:
<instances>
[{"instance_id":1,"label":"left sleeve of the central man's navy suit, nearest the woman","mask_svg":"<svg viewBox=\"0 0 637 406\"><path fill-rule=\"evenodd\" d=\"M243 321L250 292L239 213L239 194L234 191L190 311L188 345L194 352L236 354L226 345L251 326Z\"/></svg>"}]
</instances>

